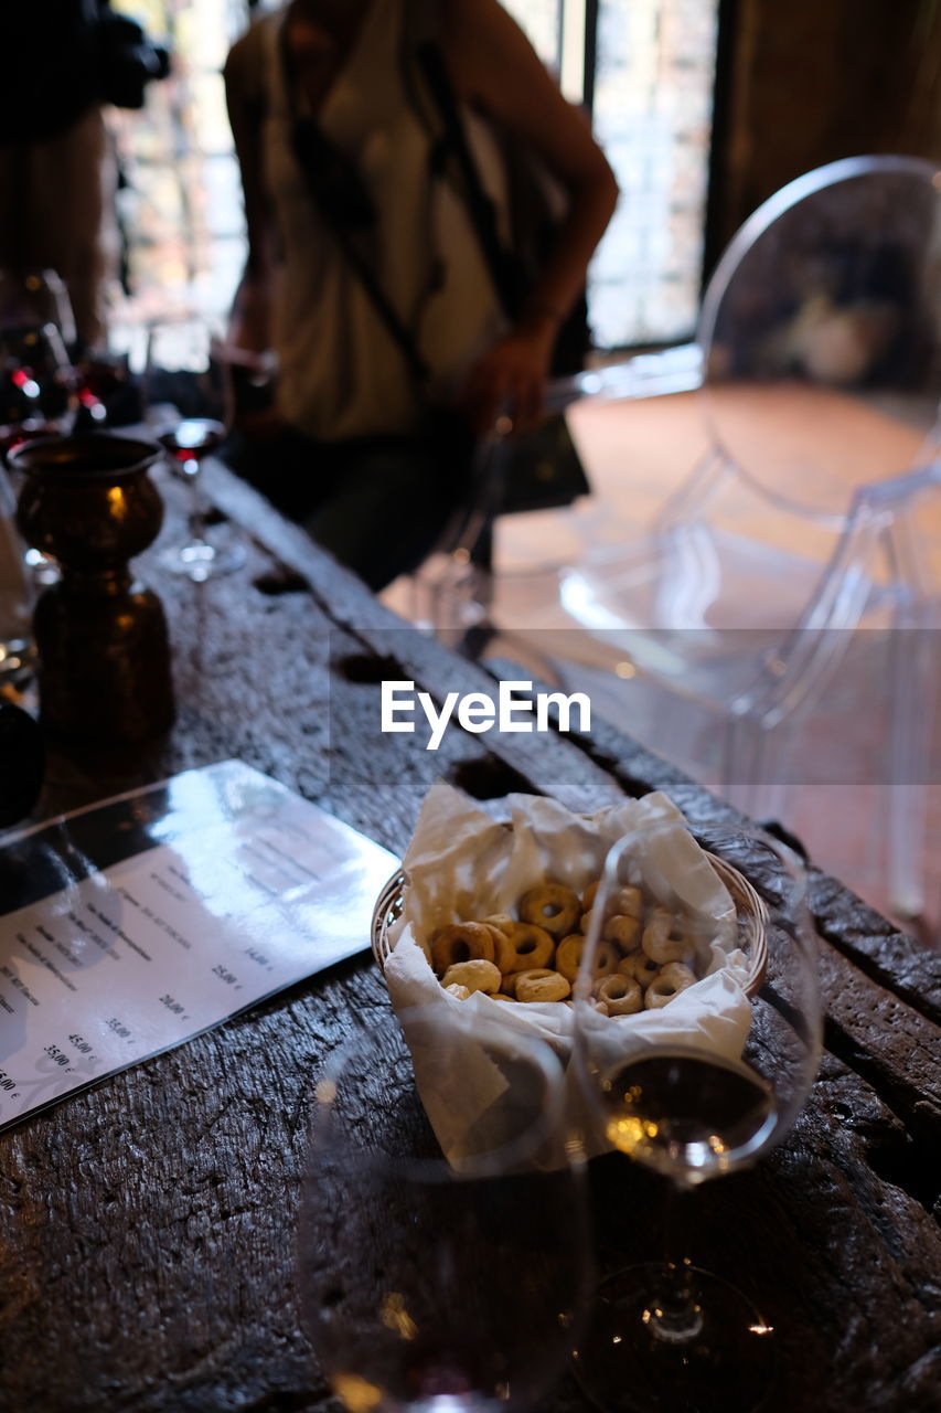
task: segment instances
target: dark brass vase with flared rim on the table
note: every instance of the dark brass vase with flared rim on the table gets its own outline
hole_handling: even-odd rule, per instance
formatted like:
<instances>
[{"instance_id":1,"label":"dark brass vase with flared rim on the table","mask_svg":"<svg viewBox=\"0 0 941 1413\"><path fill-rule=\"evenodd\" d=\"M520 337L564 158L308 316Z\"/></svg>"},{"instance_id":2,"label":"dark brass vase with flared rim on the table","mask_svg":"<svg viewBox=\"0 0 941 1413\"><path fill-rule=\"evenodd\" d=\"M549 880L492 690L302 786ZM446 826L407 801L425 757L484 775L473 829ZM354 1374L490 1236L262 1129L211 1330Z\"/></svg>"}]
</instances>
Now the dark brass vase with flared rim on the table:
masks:
<instances>
[{"instance_id":1,"label":"dark brass vase with flared rim on the table","mask_svg":"<svg viewBox=\"0 0 941 1413\"><path fill-rule=\"evenodd\" d=\"M174 721L167 620L129 561L158 534L155 442L106 432L27 442L17 523L61 568L35 608L40 716L54 736L102 745L162 735Z\"/></svg>"}]
</instances>

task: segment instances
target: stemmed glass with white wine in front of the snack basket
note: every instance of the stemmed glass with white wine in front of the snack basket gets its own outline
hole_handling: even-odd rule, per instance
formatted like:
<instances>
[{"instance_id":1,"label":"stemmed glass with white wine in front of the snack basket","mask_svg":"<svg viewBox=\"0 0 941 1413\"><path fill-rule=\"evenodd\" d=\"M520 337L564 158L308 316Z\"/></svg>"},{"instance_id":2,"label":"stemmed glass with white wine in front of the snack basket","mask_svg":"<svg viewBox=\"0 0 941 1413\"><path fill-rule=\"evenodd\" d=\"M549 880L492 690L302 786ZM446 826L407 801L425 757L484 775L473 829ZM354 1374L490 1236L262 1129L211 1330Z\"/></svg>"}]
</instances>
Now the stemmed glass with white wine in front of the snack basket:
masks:
<instances>
[{"instance_id":1,"label":"stemmed glass with white wine in front of the snack basket","mask_svg":"<svg viewBox=\"0 0 941 1413\"><path fill-rule=\"evenodd\" d=\"M572 1063L595 1146L663 1174L668 1207L781 1142L821 1046L800 861L745 828L712 832L706 848L685 835L677 852L667 821L615 845L575 996ZM745 1413L760 1406L773 1359L773 1330L754 1304L673 1251L600 1283L576 1369L609 1413Z\"/></svg>"}]
</instances>

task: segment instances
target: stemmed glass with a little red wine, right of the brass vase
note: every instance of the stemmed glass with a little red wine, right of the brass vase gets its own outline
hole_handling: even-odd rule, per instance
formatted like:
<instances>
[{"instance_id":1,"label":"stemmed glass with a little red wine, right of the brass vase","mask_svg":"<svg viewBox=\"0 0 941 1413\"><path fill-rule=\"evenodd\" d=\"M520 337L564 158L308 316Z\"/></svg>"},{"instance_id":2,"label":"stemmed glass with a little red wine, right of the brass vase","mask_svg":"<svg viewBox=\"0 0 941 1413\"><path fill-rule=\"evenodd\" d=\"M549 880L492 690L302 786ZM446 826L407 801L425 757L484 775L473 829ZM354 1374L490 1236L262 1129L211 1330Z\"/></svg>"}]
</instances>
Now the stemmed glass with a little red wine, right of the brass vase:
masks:
<instances>
[{"instance_id":1,"label":"stemmed glass with a little red wine, right of the brass vase","mask_svg":"<svg viewBox=\"0 0 941 1413\"><path fill-rule=\"evenodd\" d=\"M225 441L229 420L229 391L213 348L213 331L205 319L151 324L143 377L148 428L189 493L188 538L165 548L160 561L198 584L232 574L246 561L246 548L232 537L230 526L209 530L199 485L203 461Z\"/></svg>"}]
</instances>

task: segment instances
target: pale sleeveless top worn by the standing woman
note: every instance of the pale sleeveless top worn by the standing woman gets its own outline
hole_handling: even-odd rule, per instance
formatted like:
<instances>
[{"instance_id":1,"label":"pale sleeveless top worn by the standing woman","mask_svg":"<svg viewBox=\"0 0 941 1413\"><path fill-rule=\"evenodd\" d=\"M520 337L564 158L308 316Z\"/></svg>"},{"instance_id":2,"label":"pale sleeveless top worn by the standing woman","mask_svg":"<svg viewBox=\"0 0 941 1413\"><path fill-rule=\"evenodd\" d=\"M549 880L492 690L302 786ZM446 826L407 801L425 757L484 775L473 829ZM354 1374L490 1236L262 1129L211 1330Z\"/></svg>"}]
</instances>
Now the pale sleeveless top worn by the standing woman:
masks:
<instances>
[{"instance_id":1,"label":"pale sleeveless top worn by the standing woman","mask_svg":"<svg viewBox=\"0 0 941 1413\"><path fill-rule=\"evenodd\" d=\"M504 321L465 205L446 179L431 175L430 138L407 99L400 69L407 3L373 0L316 120L373 198L379 222L362 249L415 333L432 370L432 398L448 401ZM256 21L266 65L264 182L283 246L273 325L280 410L322 439L408 431L420 400L403 352L318 216L291 150L283 23L284 11ZM482 181L506 223L496 143L480 119L468 110L463 117ZM428 295L435 260L444 280Z\"/></svg>"}]
</instances>

